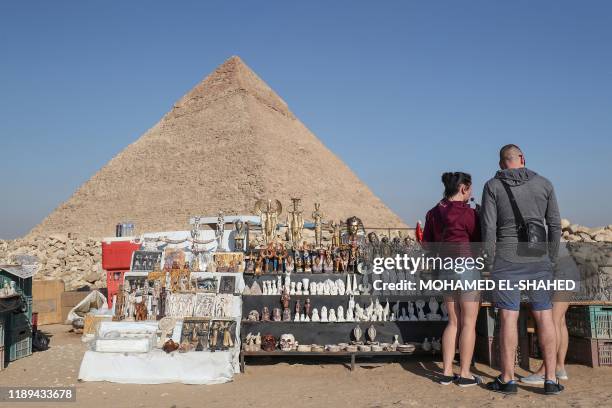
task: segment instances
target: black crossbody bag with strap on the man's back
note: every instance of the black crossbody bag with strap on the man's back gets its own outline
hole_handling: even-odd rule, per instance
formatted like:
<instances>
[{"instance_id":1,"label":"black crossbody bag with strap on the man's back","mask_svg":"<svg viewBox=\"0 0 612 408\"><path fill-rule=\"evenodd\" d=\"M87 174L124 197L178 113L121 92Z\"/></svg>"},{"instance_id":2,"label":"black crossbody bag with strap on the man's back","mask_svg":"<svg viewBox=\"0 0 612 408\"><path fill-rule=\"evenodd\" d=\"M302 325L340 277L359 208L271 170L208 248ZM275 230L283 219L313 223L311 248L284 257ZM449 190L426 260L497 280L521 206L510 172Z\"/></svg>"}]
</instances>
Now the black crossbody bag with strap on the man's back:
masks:
<instances>
[{"instance_id":1,"label":"black crossbody bag with strap on the man's back","mask_svg":"<svg viewBox=\"0 0 612 408\"><path fill-rule=\"evenodd\" d=\"M548 239L546 228L536 222L526 221L518 208L512 189L503 181L501 182L510 199L510 206L514 213L514 221L518 233L519 245L516 250L518 256L541 257L548 253Z\"/></svg>"}]
</instances>

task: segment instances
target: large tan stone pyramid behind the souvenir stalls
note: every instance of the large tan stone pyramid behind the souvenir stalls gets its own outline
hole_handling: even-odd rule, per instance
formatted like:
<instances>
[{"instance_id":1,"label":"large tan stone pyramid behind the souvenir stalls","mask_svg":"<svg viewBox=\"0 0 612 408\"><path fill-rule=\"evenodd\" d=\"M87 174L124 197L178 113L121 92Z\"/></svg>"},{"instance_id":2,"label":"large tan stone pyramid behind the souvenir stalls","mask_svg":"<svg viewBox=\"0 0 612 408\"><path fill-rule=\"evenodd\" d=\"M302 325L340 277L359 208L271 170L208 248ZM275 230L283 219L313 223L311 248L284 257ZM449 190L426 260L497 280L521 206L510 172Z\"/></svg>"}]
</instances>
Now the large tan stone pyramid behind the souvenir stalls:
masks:
<instances>
[{"instance_id":1,"label":"large tan stone pyramid behind the souvenir stalls","mask_svg":"<svg viewBox=\"0 0 612 408\"><path fill-rule=\"evenodd\" d=\"M259 198L302 198L327 220L371 227L405 224L327 149L239 57L181 98L30 235L112 236L130 220L139 232L185 230L193 215L252 214ZM280 219L285 219L285 211Z\"/></svg>"}]
</instances>

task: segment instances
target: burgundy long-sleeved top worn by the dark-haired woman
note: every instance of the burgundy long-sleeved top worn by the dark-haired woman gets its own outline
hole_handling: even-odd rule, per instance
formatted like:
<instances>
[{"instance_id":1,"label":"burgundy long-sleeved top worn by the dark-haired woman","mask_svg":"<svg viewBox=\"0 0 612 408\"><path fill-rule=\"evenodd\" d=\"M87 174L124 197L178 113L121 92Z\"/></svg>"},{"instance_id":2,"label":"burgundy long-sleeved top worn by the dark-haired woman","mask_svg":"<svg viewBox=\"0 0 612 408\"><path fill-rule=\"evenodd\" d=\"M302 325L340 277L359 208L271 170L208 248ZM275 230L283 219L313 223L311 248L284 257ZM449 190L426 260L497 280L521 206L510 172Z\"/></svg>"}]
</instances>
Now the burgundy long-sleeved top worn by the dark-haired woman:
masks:
<instances>
[{"instance_id":1,"label":"burgundy long-sleeved top worn by the dark-haired woman","mask_svg":"<svg viewBox=\"0 0 612 408\"><path fill-rule=\"evenodd\" d=\"M478 214L461 201L440 201L427 212L424 242L479 242Z\"/></svg>"}]
</instances>

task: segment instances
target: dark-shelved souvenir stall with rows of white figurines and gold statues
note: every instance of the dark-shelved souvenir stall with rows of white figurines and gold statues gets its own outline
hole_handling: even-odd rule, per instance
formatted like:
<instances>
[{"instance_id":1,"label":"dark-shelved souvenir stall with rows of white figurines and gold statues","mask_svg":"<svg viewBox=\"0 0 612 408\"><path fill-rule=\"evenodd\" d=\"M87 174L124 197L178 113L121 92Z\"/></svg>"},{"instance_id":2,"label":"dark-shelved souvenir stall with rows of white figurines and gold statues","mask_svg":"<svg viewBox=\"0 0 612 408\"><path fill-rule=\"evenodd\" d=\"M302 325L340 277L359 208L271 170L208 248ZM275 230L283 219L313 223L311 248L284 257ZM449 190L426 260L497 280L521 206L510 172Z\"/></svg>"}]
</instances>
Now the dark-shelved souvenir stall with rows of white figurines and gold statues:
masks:
<instances>
[{"instance_id":1,"label":"dark-shelved souvenir stall with rows of white figurines and gold statues","mask_svg":"<svg viewBox=\"0 0 612 408\"><path fill-rule=\"evenodd\" d=\"M318 204L304 222L299 199L286 225L278 224L278 201L259 202L256 211L259 239L246 257L242 294L242 370L256 357L346 357L353 368L361 357L439 352L447 320L439 294L374 285L419 278L371 268L375 257L420 255L413 240L379 238L357 217L325 222Z\"/></svg>"}]
</instances>

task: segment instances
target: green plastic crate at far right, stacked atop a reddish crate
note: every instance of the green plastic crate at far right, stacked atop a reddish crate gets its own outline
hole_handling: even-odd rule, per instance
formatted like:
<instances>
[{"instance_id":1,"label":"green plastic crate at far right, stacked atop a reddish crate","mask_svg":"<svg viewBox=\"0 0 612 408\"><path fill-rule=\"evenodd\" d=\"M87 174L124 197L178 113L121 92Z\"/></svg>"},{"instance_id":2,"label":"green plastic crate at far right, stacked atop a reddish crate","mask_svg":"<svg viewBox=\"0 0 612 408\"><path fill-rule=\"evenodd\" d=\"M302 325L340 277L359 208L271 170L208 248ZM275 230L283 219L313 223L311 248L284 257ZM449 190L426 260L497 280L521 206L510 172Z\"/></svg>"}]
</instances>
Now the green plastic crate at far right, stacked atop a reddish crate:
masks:
<instances>
[{"instance_id":1,"label":"green plastic crate at far right, stacked atop a reddish crate","mask_svg":"<svg viewBox=\"0 0 612 408\"><path fill-rule=\"evenodd\" d=\"M570 336L612 339L612 306L572 306L565 321Z\"/></svg>"}]
</instances>

